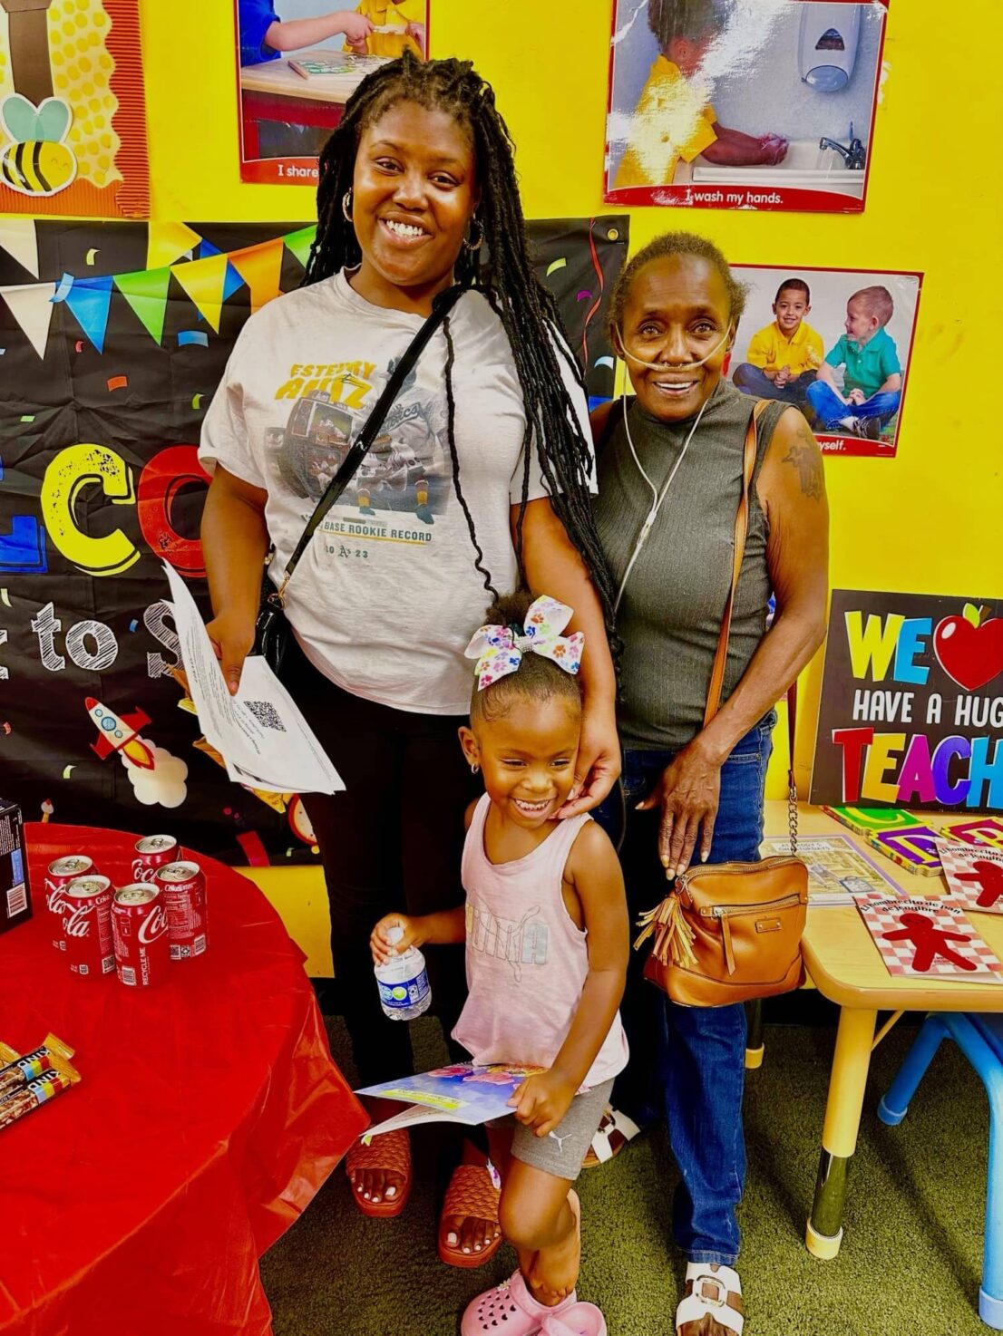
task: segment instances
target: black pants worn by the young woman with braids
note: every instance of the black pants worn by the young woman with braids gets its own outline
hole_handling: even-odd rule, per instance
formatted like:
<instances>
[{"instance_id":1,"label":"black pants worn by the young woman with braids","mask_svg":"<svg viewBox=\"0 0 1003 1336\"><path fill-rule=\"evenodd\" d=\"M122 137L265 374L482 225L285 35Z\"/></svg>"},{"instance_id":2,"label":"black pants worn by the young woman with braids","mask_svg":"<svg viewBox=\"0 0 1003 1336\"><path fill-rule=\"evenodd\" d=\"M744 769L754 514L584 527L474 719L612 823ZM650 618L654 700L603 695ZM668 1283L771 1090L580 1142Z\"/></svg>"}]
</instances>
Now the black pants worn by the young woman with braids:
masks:
<instances>
[{"instance_id":1,"label":"black pants worn by the young woman with braids","mask_svg":"<svg viewBox=\"0 0 1003 1336\"><path fill-rule=\"evenodd\" d=\"M408 1025L382 1014L369 934L384 914L431 914L463 903L463 814L477 783L456 729L465 716L415 715L336 687L290 640L282 680L345 782L344 794L304 794L330 902L337 1010L358 1083L413 1070ZM467 983L461 946L423 947L432 1011L456 1025ZM449 1041L455 1061L468 1055Z\"/></svg>"}]
</instances>

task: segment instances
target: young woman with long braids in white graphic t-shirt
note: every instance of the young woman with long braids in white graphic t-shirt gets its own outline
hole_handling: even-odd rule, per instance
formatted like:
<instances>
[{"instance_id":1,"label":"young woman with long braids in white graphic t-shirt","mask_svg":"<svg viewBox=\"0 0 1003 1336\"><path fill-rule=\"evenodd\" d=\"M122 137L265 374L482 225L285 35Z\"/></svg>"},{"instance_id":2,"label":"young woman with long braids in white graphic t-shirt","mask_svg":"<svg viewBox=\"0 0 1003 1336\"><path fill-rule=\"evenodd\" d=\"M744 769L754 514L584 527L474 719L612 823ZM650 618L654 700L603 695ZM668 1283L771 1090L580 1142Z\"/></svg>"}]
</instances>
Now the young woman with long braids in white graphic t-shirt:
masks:
<instances>
[{"instance_id":1,"label":"young woman with long braids in white graphic t-shirt","mask_svg":"<svg viewBox=\"0 0 1003 1336\"><path fill-rule=\"evenodd\" d=\"M328 883L338 1009L360 1085L372 1085L412 1069L407 1026L377 1003L372 923L401 892L412 914L463 902L475 782L456 729L484 589L520 577L546 589L575 608L572 629L592 647L564 816L595 806L619 772L611 599L580 373L530 263L491 87L460 60L405 53L381 67L321 155L317 203L305 286L246 323L203 428L209 631L231 691L269 541L278 574L433 298L469 287L288 589L296 647L284 677L346 786L304 803ZM460 949L432 947L428 963L448 1034L463 1005ZM353 1148L348 1170L361 1210L397 1214L411 1188L407 1133ZM495 1206L483 1164L461 1166L440 1255L485 1260L500 1237Z\"/></svg>"}]
</instances>

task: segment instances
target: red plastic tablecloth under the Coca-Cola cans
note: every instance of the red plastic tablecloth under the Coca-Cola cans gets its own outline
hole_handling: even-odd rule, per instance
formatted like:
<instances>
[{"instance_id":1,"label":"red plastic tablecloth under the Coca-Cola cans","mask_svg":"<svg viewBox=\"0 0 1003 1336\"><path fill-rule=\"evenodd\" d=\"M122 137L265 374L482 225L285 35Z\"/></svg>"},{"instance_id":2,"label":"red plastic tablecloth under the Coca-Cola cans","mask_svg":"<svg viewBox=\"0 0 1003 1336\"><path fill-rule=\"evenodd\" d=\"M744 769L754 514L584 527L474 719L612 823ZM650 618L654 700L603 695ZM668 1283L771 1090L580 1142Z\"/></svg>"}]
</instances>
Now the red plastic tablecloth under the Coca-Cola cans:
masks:
<instances>
[{"instance_id":1,"label":"red plastic tablecloth under the Coca-Cola cans","mask_svg":"<svg viewBox=\"0 0 1003 1336\"><path fill-rule=\"evenodd\" d=\"M0 1039L52 1030L82 1082L0 1132L4 1336L270 1336L258 1257L366 1116L278 915L195 854L209 950L148 990L80 979L49 945L44 870L131 880L135 836L25 826L35 918L0 937Z\"/></svg>"}]
</instances>

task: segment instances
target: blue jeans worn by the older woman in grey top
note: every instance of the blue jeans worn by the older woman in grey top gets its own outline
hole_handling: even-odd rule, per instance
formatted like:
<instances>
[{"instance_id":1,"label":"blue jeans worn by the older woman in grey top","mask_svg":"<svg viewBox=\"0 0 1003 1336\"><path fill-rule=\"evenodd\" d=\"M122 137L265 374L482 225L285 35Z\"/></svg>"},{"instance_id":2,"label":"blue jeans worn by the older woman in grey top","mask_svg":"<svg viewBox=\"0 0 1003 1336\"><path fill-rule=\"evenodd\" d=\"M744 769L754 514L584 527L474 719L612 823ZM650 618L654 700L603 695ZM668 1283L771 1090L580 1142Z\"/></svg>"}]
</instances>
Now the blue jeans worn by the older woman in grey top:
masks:
<instances>
[{"instance_id":1,"label":"blue jeans worn by the older woman in grey top","mask_svg":"<svg viewBox=\"0 0 1003 1336\"><path fill-rule=\"evenodd\" d=\"M766 715L734 747L721 767L721 804L710 847L711 863L754 862L762 840L762 799L772 731ZM666 892L658 862L659 812L638 812L673 752L625 749L619 790L594 814L614 843L633 922ZM685 1007L670 1002L642 977L642 951L631 951L621 1015L630 1042L630 1065L617 1078L612 1102L635 1122L665 1110L679 1166L673 1233L690 1261L734 1265L740 1232L736 1206L745 1186L742 1088L745 1007Z\"/></svg>"}]
</instances>

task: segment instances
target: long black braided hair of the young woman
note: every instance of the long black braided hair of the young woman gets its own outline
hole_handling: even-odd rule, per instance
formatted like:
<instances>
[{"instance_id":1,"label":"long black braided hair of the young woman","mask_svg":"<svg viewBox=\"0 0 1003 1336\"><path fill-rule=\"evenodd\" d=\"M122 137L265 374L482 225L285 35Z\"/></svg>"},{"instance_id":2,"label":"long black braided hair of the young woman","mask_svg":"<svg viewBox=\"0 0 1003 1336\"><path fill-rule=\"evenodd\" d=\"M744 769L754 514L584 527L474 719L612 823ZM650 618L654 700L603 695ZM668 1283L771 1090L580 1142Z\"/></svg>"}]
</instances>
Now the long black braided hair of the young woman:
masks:
<instances>
[{"instance_id":1,"label":"long black braided hair of the young woman","mask_svg":"<svg viewBox=\"0 0 1003 1336\"><path fill-rule=\"evenodd\" d=\"M306 265L305 283L329 278L357 265L358 243L352 223L342 212L342 198L352 187L356 151L362 131L391 107L413 102L429 111L444 111L469 135L480 187L477 220L484 230L484 247L463 247L453 269L457 283L475 286L484 294L504 326L512 349L526 410L523 437L523 496L516 525L516 558L523 576L523 520L530 494L530 464L536 449L550 501L568 538L580 553L606 615L612 637L615 589L599 536L590 496L591 445L578 425L564 389L558 357L563 357L579 385L582 370L566 347L554 295L536 278L528 255L526 223L516 184L514 144L502 114L495 106L491 84L476 73L468 60L421 61L411 52L368 75L349 98L341 122L320 156L317 187L317 238ZM460 486L460 469L453 438L452 367L455 349L449 322L447 337L445 391L447 434L452 458L453 486L467 517L475 565L484 588L497 597L483 565L473 517ZM524 576L523 576L524 577Z\"/></svg>"}]
</instances>

